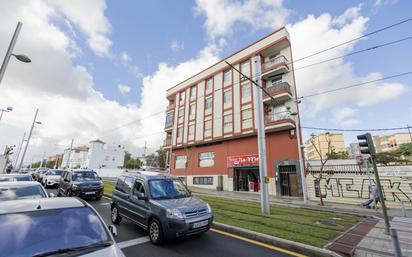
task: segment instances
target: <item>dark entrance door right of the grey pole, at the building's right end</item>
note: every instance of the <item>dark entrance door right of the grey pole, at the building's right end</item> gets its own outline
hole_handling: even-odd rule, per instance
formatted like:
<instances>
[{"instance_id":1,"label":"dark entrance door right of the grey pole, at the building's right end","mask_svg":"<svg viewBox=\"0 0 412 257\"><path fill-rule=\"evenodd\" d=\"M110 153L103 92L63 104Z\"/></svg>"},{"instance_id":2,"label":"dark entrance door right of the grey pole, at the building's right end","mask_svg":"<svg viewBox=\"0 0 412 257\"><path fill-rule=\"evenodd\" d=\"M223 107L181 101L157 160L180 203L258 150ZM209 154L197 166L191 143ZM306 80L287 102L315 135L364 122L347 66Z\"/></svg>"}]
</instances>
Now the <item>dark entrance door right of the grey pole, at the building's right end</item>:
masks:
<instances>
[{"instance_id":1,"label":"dark entrance door right of the grey pole, at the building's right end","mask_svg":"<svg viewBox=\"0 0 412 257\"><path fill-rule=\"evenodd\" d=\"M279 179L282 196L299 196L295 165L279 166Z\"/></svg>"}]
</instances>

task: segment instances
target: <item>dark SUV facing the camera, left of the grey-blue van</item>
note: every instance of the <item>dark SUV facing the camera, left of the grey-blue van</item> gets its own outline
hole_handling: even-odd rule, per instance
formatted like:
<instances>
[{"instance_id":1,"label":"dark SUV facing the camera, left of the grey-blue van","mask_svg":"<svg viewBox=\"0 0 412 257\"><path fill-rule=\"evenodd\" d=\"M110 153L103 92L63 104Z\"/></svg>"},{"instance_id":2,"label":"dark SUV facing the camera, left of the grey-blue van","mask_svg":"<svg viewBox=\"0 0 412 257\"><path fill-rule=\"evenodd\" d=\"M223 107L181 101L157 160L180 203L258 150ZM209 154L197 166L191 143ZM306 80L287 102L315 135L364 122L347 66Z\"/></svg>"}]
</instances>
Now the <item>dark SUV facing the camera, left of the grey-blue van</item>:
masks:
<instances>
[{"instance_id":1,"label":"dark SUV facing the camera, left of the grey-blue van","mask_svg":"<svg viewBox=\"0 0 412 257\"><path fill-rule=\"evenodd\" d=\"M103 196L103 191L103 182L95 171L68 170L60 177L57 196L78 196L99 200Z\"/></svg>"}]
</instances>

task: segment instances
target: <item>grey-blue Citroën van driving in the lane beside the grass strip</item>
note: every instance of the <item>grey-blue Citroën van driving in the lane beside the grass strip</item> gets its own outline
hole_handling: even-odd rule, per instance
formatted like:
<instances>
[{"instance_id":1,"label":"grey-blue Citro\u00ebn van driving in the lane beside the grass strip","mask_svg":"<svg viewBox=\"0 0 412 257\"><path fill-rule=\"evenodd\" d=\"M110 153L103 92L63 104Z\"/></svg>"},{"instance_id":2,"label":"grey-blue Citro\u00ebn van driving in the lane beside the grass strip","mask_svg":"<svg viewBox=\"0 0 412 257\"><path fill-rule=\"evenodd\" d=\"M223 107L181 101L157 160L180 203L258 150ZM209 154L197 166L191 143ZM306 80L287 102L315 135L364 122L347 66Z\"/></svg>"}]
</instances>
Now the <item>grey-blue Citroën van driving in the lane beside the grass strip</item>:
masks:
<instances>
[{"instance_id":1,"label":"grey-blue Citro\u00ebn van driving in the lane beside the grass strip","mask_svg":"<svg viewBox=\"0 0 412 257\"><path fill-rule=\"evenodd\" d=\"M128 172L113 190L111 219L126 218L148 230L154 244L206 232L212 225L209 204L192 197L177 177L158 172Z\"/></svg>"}]
</instances>

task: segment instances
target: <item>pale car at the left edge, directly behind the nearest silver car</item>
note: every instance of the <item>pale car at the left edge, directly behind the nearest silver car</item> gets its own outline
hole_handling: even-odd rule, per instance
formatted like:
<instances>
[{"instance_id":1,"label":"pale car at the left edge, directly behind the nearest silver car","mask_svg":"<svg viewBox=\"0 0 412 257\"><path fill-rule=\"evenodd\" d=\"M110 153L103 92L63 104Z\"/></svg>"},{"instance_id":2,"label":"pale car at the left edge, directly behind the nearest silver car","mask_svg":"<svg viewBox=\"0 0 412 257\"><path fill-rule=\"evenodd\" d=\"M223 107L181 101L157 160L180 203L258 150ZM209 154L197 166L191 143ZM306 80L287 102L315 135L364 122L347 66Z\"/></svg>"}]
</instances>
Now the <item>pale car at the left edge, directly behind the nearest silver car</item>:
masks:
<instances>
[{"instance_id":1,"label":"pale car at the left edge, directly behind the nearest silver car","mask_svg":"<svg viewBox=\"0 0 412 257\"><path fill-rule=\"evenodd\" d=\"M50 194L50 196L54 195ZM47 197L49 197L49 195L47 194L46 189L44 189L42 185L35 181L0 183L0 202L17 199L37 199Z\"/></svg>"}]
</instances>

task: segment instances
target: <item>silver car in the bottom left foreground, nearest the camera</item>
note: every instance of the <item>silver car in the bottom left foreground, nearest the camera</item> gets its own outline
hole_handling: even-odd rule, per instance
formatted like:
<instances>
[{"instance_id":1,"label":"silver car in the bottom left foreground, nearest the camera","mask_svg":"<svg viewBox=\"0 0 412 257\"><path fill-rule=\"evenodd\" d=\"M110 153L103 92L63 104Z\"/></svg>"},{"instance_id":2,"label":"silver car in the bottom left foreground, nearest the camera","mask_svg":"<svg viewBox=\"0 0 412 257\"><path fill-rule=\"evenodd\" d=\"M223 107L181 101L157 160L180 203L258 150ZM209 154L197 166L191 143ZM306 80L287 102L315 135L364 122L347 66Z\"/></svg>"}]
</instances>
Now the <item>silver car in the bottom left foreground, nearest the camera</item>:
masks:
<instances>
[{"instance_id":1,"label":"silver car in the bottom left foreground, nearest the camera","mask_svg":"<svg viewBox=\"0 0 412 257\"><path fill-rule=\"evenodd\" d=\"M0 202L1 256L124 257L96 210L76 198Z\"/></svg>"}]
</instances>

